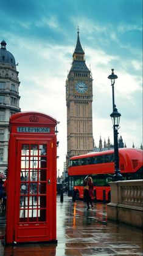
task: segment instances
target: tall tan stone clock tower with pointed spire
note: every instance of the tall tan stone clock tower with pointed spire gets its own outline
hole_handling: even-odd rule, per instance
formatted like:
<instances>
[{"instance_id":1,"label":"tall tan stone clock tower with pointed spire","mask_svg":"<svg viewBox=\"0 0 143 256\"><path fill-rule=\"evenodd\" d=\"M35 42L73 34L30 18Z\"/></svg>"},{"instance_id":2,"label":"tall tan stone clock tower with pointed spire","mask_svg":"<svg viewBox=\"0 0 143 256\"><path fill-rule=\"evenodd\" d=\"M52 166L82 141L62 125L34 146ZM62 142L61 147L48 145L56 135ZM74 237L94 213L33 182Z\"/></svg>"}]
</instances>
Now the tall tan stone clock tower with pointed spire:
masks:
<instances>
[{"instance_id":1,"label":"tall tan stone clock tower with pointed spire","mask_svg":"<svg viewBox=\"0 0 143 256\"><path fill-rule=\"evenodd\" d=\"M94 148L92 135L92 75L77 31L77 44L66 80L67 160Z\"/></svg>"}]
</instances>

